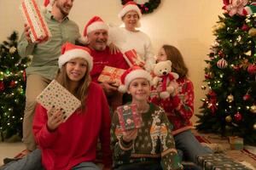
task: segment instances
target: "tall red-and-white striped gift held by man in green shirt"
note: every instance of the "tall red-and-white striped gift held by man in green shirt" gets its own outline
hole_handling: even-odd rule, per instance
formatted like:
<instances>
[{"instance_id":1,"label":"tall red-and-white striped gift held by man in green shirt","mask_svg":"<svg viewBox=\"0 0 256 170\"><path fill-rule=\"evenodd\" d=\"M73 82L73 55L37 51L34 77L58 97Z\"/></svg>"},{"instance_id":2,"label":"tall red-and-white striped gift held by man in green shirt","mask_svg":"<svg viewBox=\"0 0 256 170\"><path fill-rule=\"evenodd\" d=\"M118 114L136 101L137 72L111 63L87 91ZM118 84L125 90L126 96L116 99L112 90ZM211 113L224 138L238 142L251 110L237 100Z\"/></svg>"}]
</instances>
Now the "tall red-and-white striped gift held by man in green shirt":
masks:
<instances>
[{"instance_id":1,"label":"tall red-and-white striped gift held by man in green shirt","mask_svg":"<svg viewBox=\"0 0 256 170\"><path fill-rule=\"evenodd\" d=\"M20 10L25 23L30 27L32 42L48 41L51 34L35 0L23 0Z\"/></svg>"}]
</instances>

